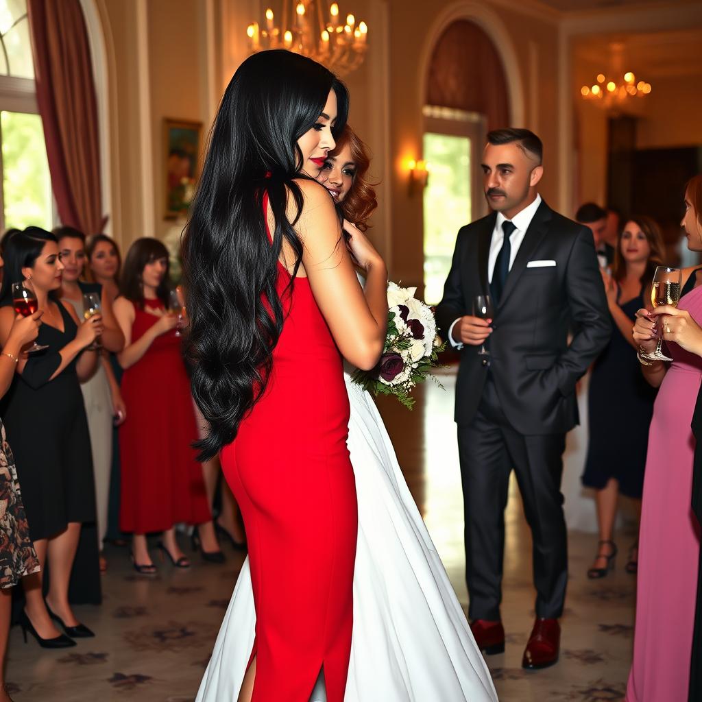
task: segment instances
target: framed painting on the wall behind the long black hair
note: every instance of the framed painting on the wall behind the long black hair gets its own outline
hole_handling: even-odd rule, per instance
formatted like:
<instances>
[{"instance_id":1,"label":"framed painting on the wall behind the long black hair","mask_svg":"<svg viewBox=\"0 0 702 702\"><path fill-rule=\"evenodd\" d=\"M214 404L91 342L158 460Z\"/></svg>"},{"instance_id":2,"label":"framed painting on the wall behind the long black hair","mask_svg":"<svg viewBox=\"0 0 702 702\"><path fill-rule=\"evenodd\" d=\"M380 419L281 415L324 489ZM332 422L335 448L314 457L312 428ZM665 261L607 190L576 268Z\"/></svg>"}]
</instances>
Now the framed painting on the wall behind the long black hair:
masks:
<instances>
[{"instance_id":1,"label":"framed painting on the wall behind the long black hair","mask_svg":"<svg viewBox=\"0 0 702 702\"><path fill-rule=\"evenodd\" d=\"M164 219L187 214L199 176L202 123L164 119Z\"/></svg>"}]
</instances>

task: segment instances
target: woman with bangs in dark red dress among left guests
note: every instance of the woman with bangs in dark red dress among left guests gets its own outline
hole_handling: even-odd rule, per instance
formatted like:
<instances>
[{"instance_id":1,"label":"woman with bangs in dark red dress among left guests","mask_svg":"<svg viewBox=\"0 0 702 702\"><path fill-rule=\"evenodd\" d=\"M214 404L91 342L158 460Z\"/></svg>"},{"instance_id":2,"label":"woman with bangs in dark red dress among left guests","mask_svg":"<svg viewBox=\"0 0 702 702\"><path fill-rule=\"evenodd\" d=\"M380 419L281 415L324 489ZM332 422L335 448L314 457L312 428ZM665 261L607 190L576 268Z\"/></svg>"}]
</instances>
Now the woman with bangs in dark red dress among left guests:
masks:
<instances>
[{"instance_id":1,"label":"woman with bangs in dark red dress among left guests","mask_svg":"<svg viewBox=\"0 0 702 702\"><path fill-rule=\"evenodd\" d=\"M158 547L174 566L190 566L173 529L178 522L211 522L197 439L190 381L181 355L178 318L168 313L168 251L157 239L129 249L114 316L124 333L117 355L124 369L127 418L119 430L120 528L133 533L132 559L141 574L156 567L146 534L163 533Z\"/></svg>"}]
</instances>

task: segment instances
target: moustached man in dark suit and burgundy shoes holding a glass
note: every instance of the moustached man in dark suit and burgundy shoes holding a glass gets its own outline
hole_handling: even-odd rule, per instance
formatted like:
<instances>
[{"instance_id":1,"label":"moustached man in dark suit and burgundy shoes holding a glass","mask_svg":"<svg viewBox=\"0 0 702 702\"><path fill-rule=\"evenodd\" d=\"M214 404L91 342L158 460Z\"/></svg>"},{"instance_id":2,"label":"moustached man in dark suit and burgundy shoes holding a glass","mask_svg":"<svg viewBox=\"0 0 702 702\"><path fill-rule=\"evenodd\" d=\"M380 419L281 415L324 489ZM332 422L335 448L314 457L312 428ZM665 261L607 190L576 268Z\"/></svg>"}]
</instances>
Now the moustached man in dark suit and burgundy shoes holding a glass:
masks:
<instances>
[{"instance_id":1,"label":"moustached man in dark suit and burgundy shoes holding a glass","mask_svg":"<svg viewBox=\"0 0 702 702\"><path fill-rule=\"evenodd\" d=\"M437 308L440 333L462 350L456 423L471 630L487 654L504 651L503 512L514 469L534 542L536 621L522 659L532 669L558 660L568 579L562 453L578 423L576 382L611 333L592 232L541 199L542 155L527 129L489 133L482 170L493 212L458 232ZM485 295L493 319L474 313Z\"/></svg>"}]
</instances>

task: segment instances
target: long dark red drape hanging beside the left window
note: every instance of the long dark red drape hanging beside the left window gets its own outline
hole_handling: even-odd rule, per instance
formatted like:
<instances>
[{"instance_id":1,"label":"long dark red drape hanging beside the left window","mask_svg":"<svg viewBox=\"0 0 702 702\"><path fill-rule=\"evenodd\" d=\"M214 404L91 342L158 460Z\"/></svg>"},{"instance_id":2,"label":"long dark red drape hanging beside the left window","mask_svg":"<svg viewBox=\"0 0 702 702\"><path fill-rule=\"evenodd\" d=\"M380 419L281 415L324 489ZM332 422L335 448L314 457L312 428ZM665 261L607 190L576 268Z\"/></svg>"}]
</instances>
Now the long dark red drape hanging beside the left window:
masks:
<instances>
[{"instance_id":1,"label":"long dark red drape hanging beside the left window","mask_svg":"<svg viewBox=\"0 0 702 702\"><path fill-rule=\"evenodd\" d=\"M64 225L102 231L98 105L79 0L27 0L37 103Z\"/></svg>"}]
</instances>

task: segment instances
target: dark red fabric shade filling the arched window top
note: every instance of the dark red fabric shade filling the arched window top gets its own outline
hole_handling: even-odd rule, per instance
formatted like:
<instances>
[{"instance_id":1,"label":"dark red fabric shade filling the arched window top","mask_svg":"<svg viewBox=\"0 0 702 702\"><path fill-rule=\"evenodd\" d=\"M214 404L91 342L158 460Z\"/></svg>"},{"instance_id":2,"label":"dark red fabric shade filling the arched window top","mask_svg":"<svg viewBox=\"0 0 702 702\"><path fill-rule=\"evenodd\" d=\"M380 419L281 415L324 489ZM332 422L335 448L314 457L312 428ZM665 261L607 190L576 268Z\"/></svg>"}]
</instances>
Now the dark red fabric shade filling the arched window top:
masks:
<instances>
[{"instance_id":1,"label":"dark red fabric shade filling the arched window top","mask_svg":"<svg viewBox=\"0 0 702 702\"><path fill-rule=\"evenodd\" d=\"M426 104L479 112L488 129L510 126L505 71L490 37L468 20L446 27L429 67Z\"/></svg>"}]
</instances>

